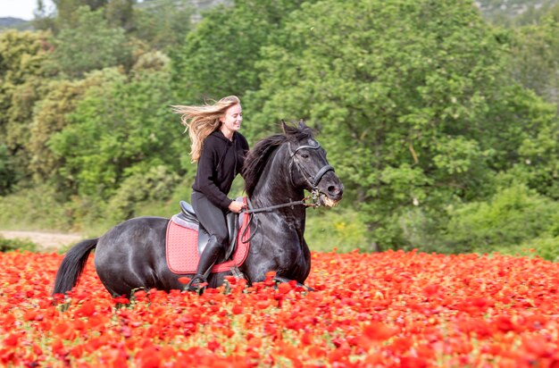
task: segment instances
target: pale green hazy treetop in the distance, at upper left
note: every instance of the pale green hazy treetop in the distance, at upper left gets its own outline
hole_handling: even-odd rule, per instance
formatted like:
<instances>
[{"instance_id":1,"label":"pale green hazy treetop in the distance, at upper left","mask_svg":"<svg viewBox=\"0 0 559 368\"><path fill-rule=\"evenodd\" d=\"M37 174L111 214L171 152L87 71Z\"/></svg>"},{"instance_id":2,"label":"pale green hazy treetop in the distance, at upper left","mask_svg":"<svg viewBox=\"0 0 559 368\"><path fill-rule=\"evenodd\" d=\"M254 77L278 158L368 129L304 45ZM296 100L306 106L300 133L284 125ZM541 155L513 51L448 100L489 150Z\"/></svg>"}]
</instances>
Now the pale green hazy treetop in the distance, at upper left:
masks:
<instances>
[{"instance_id":1,"label":"pale green hazy treetop in the distance, at upper left","mask_svg":"<svg viewBox=\"0 0 559 368\"><path fill-rule=\"evenodd\" d=\"M79 7L77 24L63 28L54 38L51 68L69 77L83 77L88 71L123 65L132 60L124 29L111 28L103 10Z\"/></svg>"}]
</instances>

